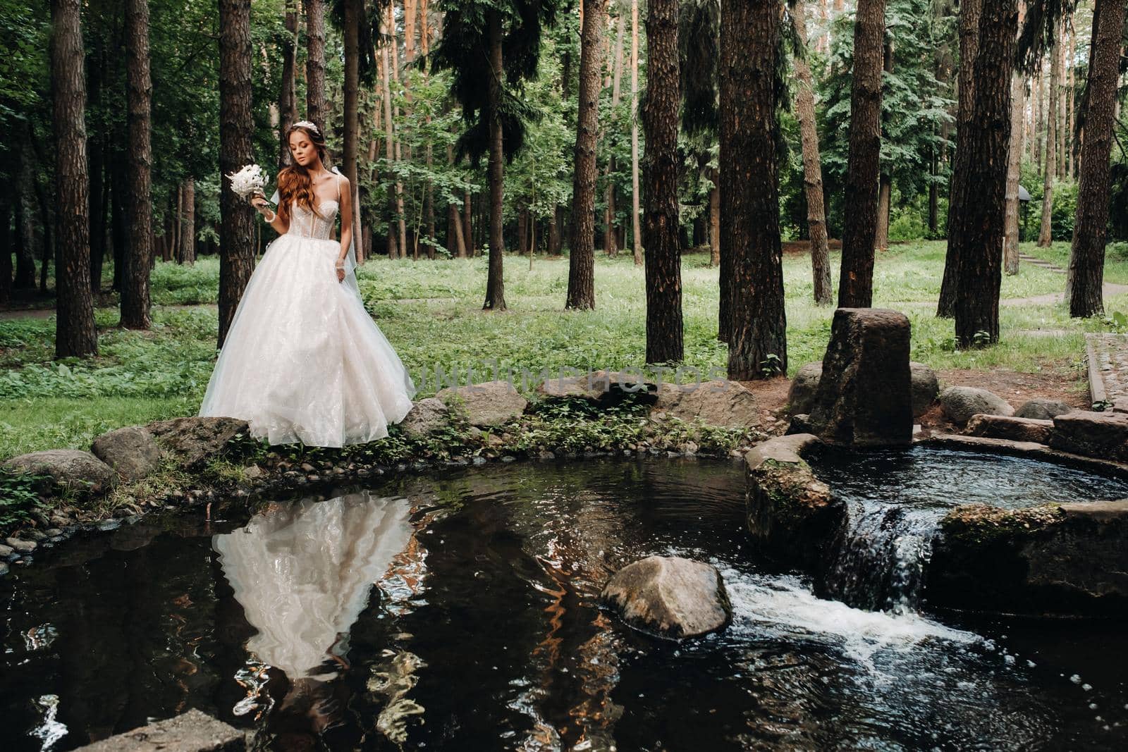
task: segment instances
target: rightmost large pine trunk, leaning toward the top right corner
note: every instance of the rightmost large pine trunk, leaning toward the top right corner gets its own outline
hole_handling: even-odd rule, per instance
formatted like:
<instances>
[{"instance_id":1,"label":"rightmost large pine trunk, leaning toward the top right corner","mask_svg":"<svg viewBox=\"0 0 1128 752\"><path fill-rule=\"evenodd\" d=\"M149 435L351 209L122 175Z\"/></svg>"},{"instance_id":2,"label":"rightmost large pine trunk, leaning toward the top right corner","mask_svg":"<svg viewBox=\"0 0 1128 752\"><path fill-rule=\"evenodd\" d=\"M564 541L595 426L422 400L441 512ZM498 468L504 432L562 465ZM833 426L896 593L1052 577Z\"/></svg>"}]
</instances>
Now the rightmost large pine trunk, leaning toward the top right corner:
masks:
<instances>
[{"instance_id":1,"label":"rightmost large pine trunk, leaning toward the top right corner","mask_svg":"<svg viewBox=\"0 0 1128 752\"><path fill-rule=\"evenodd\" d=\"M1112 154L1120 46L1125 3L1096 0L1093 51L1081 147L1077 214L1069 254L1066 297L1069 316L1090 317L1104 310L1104 244L1109 223L1109 159Z\"/></svg>"}]
</instances>

